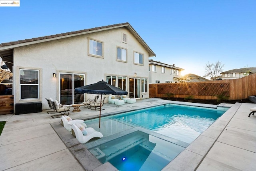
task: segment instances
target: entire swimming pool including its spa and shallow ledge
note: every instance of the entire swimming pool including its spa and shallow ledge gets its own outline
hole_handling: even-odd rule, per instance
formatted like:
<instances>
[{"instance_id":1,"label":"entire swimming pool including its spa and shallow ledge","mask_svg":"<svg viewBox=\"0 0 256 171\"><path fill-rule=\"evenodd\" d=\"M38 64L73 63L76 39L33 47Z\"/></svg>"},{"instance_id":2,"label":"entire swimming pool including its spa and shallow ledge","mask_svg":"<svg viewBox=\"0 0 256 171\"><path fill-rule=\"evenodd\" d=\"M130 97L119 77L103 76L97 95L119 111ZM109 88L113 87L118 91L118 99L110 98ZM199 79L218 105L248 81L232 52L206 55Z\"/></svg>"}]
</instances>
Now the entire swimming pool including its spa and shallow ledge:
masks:
<instances>
[{"instance_id":1,"label":"entire swimming pool including its spa and shallow ledge","mask_svg":"<svg viewBox=\"0 0 256 171\"><path fill-rule=\"evenodd\" d=\"M105 156L110 156L111 154L116 154L117 157L103 157L104 159L101 159L100 161L102 163L109 161L114 165L117 169L125 170L125 168L129 168L126 163L136 163L136 168L144 167L144 168L151 168L150 160L161 160L166 161L163 162L161 166L157 167L158 169L153 170L159 170L159 168L163 168L165 165L167 165L176 155L178 155L183 149L185 149L186 145L180 145L180 144L189 144L196 137L198 137L205 129L207 129L218 117L220 117L228 108L222 108L222 109L215 109L215 108L204 108L204 107L193 107L193 106L186 106L186 105L161 105L158 107L150 107L147 109L142 109L139 111L132 111L127 113L122 113L118 115L112 115L108 117L102 117L101 120L101 128L98 129L98 119L92 119L85 121L86 125L88 127L94 127L94 129L97 129L100 131L104 137L111 137L111 141L107 141L104 143L100 143L100 145L93 145L90 143L86 143L85 146L93 153L95 156L99 155L100 153L104 154ZM140 145L138 143L138 147L132 148L132 151L130 151L130 148L124 148L126 146L130 146L130 144L134 144L135 141L132 140L131 133L134 133L131 131L131 133L127 133L126 135L118 135L121 132L127 132L134 128L142 128L140 132L145 133L147 132L147 135L143 135L143 139L149 139L145 137L155 137L155 139L162 140L161 142L164 142L167 144L167 149L170 150L176 150L176 153L174 153L174 157L167 157L170 160L165 160L160 157L159 155L154 155L154 151L148 151L148 149L143 149L143 145ZM143 131L148 130L148 131ZM137 133L138 134L138 133ZM155 136L153 136L155 135ZM103 137L103 138L104 138ZM164 137L171 137L172 139L166 139ZM102 138L102 139L103 139ZM113 140L112 140L113 139ZM152 139L152 138L151 138ZM148 140L149 141L149 140ZM127 142L127 143L124 143ZM151 142L151 141L150 141ZM152 141L155 142L155 141ZM160 142L160 141L158 141ZM177 143L178 142L178 143ZM90 144L90 145L88 145ZM159 143L156 143L159 144ZM159 146L158 146L159 147ZM136 151L137 149L137 151ZM154 149L154 148L153 148ZM135 151L134 151L135 150ZM98 151L97 153L95 153ZM118 151L118 153L116 153ZM166 149L160 148L158 150L158 153L165 154L164 156L168 156L168 153L166 153ZM122 153L121 153L122 152ZM170 152L171 154L173 152ZM135 156L145 156L142 158L136 159L136 161L130 161L130 162L124 162L121 161L120 158L124 154L130 154L128 155L128 158L135 159ZM155 159L146 157L148 155L155 156ZM126 155L125 155L126 156ZM133 157L132 157L133 156ZM146 158L146 159L145 159ZM100 158L99 158L100 159ZM128 161L128 160L127 160ZM144 164L148 163L148 164ZM126 165L126 166L125 166ZM135 166L134 166L135 167ZM129 169L128 169L129 170ZM139 169L132 169L132 170L139 170Z\"/></svg>"}]
</instances>

